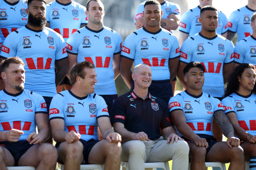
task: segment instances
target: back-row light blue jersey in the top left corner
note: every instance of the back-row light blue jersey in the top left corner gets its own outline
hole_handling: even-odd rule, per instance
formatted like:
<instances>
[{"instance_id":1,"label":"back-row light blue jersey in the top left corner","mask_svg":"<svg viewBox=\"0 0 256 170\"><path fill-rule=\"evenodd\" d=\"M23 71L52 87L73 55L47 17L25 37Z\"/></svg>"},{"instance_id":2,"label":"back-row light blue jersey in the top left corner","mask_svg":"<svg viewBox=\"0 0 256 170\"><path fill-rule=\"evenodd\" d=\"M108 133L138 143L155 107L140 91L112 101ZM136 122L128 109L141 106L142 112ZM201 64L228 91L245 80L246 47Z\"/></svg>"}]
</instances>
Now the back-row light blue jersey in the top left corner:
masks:
<instances>
[{"instance_id":1,"label":"back-row light blue jersey in the top left corner","mask_svg":"<svg viewBox=\"0 0 256 170\"><path fill-rule=\"evenodd\" d=\"M27 24L27 8L26 0L18 0L15 3L0 0L0 38L3 42L7 35Z\"/></svg>"}]
</instances>

